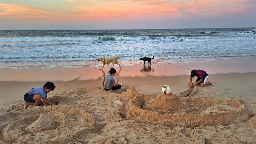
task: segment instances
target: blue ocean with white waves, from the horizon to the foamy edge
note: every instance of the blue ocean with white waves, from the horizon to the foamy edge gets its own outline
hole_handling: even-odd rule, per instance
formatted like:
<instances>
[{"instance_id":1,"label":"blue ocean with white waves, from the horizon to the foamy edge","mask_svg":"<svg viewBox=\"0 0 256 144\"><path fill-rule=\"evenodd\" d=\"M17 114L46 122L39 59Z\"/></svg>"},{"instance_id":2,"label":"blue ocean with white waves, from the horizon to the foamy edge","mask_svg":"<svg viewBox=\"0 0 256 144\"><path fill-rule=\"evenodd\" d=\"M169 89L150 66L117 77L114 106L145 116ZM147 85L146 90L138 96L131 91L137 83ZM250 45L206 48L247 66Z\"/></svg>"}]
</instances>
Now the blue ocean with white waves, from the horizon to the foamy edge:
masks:
<instances>
[{"instance_id":1,"label":"blue ocean with white waves, from the horizon to the foamy edge","mask_svg":"<svg viewBox=\"0 0 256 144\"><path fill-rule=\"evenodd\" d=\"M184 62L255 56L256 28L0 30L0 68L100 68L98 57L117 54L123 66L153 56Z\"/></svg>"}]
</instances>

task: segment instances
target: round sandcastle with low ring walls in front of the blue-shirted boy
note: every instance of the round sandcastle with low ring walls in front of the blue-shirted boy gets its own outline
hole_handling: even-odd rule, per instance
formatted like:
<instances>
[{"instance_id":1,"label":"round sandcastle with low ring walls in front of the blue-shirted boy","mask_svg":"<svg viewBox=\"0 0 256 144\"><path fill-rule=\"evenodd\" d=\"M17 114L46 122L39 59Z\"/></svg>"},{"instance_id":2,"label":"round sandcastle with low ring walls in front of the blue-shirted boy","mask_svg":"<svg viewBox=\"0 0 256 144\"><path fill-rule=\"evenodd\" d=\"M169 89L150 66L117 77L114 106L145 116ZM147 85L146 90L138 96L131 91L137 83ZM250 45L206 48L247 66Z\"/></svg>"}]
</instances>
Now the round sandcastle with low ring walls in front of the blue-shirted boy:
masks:
<instances>
[{"instance_id":1,"label":"round sandcastle with low ring walls in front of the blue-shirted boy","mask_svg":"<svg viewBox=\"0 0 256 144\"><path fill-rule=\"evenodd\" d=\"M83 133L95 131L93 116L80 108L59 105L28 109L24 116L4 127L3 140L13 143L67 143ZM42 112L42 114L37 114ZM20 139L22 137L22 139Z\"/></svg>"}]
</instances>

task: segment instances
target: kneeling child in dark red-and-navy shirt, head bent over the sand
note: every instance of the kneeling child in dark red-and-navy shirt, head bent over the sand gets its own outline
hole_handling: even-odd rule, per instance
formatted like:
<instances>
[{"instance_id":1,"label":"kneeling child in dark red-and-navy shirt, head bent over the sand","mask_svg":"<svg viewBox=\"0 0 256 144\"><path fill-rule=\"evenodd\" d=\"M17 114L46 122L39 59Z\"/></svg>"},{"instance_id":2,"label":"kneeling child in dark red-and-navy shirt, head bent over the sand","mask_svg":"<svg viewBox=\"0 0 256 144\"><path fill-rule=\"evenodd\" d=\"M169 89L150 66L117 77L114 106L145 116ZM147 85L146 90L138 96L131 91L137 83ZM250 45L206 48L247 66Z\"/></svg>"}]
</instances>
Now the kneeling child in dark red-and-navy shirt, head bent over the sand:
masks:
<instances>
[{"instance_id":1,"label":"kneeling child in dark red-and-navy shirt, head bent over the sand","mask_svg":"<svg viewBox=\"0 0 256 144\"><path fill-rule=\"evenodd\" d=\"M192 83L192 77L196 76L197 79L196 79L196 82L193 84ZM200 69L194 69L191 71L191 74L190 74L190 77L189 77L189 80L190 80L190 86L191 87L194 87L196 86L196 84L199 84L201 83L200 85L201 86L206 86L206 85L211 85L212 83L209 81L206 83L208 79L208 74L204 71L204 70L200 70Z\"/></svg>"}]
</instances>

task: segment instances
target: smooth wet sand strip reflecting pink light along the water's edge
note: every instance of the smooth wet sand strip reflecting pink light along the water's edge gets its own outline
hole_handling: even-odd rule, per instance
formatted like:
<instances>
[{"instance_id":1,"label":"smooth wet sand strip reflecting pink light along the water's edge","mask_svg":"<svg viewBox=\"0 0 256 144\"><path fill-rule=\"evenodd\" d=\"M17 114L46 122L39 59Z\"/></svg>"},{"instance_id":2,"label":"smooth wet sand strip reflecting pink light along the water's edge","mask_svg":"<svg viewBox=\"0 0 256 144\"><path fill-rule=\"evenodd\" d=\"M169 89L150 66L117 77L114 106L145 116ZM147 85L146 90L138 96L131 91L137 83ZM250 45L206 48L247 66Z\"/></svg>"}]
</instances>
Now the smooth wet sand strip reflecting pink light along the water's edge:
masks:
<instances>
[{"instance_id":1,"label":"smooth wet sand strip reflecting pink light along the water's edge","mask_svg":"<svg viewBox=\"0 0 256 144\"><path fill-rule=\"evenodd\" d=\"M200 58L193 59L195 62L188 62L191 59L180 60L152 60L152 64L143 65L143 62L134 63L133 66L114 68L118 77L145 77L145 76L181 76L189 75L192 69L203 69L209 75L226 73L248 73L256 72L256 56L232 57L232 58ZM138 62L138 61L136 61ZM65 68L65 69L0 69L0 81L37 82L37 81L73 81L73 80L96 80L108 73L109 68L105 65L102 70L100 62L94 62L92 67ZM92 63L90 63L92 65ZM112 65L110 64L110 67Z\"/></svg>"}]
</instances>

